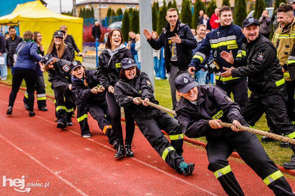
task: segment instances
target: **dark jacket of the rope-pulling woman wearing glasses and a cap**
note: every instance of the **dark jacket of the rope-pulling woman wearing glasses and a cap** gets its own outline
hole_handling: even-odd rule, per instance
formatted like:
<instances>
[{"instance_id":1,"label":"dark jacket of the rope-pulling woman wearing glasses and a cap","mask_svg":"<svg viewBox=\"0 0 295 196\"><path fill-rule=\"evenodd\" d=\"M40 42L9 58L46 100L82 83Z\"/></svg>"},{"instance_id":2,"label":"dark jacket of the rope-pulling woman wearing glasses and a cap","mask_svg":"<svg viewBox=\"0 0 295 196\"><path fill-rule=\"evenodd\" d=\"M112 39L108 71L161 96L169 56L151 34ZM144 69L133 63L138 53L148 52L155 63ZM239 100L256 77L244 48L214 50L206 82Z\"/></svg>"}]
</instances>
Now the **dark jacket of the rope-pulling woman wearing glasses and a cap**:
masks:
<instances>
[{"instance_id":1,"label":"dark jacket of the rope-pulling woman wearing glasses and a cap","mask_svg":"<svg viewBox=\"0 0 295 196\"><path fill-rule=\"evenodd\" d=\"M132 113L133 118L138 117L150 117L157 112L159 109L144 106L142 104L135 104L131 97L141 97L142 99L148 98L150 102L159 104L153 95L154 87L150 82L148 74L145 72L140 72L136 74L133 79L120 79L115 84L114 96L117 100L119 106L128 108ZM127 97L130 96L130 97Z\"/></svg>"}]
</instances>

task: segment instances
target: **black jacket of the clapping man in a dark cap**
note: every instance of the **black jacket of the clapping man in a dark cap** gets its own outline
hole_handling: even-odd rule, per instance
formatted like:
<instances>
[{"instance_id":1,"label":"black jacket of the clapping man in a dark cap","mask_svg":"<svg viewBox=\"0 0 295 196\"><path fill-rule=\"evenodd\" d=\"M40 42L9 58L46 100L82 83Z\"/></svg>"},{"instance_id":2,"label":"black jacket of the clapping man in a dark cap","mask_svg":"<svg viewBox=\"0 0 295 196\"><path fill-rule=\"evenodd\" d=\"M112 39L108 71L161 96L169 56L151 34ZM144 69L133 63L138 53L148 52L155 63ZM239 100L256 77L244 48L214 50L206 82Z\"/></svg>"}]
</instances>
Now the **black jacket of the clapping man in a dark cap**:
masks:
<instances>
[{"instance_id":1,"label":"black jacket of the clapping man in a dark cap","mask_svg":"<svg viewBox=\"0 0 295 196\"><path fill-rule=\"evenodd\" d=\"M232 77L248 77L248 87L256 96L281 94L286 99L285 80L276 47L259 32L254 41L244 37L242 58L235 59Z\"/></svg>"}]
</instances>

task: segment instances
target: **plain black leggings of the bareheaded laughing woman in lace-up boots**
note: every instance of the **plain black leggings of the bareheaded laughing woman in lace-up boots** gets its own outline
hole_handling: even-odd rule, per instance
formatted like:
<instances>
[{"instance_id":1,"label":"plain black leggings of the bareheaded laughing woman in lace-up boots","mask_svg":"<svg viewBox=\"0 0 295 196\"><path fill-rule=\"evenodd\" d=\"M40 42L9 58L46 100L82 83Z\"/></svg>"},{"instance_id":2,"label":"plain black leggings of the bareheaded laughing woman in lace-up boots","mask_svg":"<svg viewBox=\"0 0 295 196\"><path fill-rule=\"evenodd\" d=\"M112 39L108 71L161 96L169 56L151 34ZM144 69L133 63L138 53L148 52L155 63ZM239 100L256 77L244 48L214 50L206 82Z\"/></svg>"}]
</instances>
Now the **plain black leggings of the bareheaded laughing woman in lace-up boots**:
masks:
<instances>
[{"instance_id":1,"label":"plain black leggings of the bareheaded laughing woman in lace-up boots","mask_svg":"<svg viewBox=\"0 0 295 196\"><path fill-rule=\"evenodd\" d=\"M109 106L109 111L112 118L112 129L116 139L123 139L122 125L121 125L121 107L116 102L113 93L106 91L106 102ZM134 135L135 123L131 117L131 112L124 109L126 122L126 139L132 140Z\"/></svg>"}]
</instances>

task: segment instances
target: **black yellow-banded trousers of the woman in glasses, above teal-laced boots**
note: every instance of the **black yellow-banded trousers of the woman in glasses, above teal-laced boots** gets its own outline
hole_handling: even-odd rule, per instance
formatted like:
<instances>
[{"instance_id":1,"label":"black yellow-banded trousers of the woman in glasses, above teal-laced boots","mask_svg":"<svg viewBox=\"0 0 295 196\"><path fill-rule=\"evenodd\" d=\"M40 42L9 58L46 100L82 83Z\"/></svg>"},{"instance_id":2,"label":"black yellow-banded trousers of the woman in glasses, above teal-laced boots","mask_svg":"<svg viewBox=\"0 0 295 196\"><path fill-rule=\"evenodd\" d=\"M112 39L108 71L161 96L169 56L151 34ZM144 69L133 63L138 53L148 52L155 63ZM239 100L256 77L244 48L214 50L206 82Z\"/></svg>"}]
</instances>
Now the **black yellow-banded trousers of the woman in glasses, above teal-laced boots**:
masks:
<instances>
[{"instance_id":1,"label":"black yellow-banded trousers of the woman in glasses, above teal-laced boots","mask_svg":"<svg viewBox=\"0 0 295 196\"><path fill-rule=\"evenodd\" d=\"M183 133L177 120L162 110L151 117L134 118L134 120L150 145L171 168L177 170L180 162L183 161L180 156L183 153ZM171 142L161 130L169 134Z\"/></svg>"}]
</instances>

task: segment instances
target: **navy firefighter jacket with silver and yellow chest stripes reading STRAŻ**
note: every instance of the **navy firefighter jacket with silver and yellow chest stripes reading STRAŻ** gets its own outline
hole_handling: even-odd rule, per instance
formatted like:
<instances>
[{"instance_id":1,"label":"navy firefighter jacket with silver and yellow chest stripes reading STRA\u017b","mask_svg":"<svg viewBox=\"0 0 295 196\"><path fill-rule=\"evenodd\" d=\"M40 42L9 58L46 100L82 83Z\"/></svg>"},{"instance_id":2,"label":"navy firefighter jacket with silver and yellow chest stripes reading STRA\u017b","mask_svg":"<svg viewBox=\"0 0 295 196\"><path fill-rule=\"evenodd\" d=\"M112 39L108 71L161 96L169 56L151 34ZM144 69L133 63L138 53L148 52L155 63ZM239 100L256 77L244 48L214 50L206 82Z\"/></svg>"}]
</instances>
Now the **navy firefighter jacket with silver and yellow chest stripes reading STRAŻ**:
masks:
<instances>
[{"instance_id":1,"label":"navy firefighter jacket with silver and yellow chest stripes reading STRA\u017b","mask_svg":"<svg viewBox=\"0 0 295 196\"><path fill-rule=\"evenodd\" d=\"M210 54L212 50L213 58L216 57L219 61L219 66L230 68L228 62L220 57L222 51L230 52L234 58L242 56L242 42L241 39L244 37L244 34L241 31L241 27L235 24L230 24L228 26L221 26L211 32L209 32L204 41L202 42L201 47L196 51L191 63L189 66L198 67L204 59ZM224 69L220 69L221 73L225 72ZM246 80L247 78L222 78L217 74L216 79L223 81L224 84L239 82Z\"/></svg>"}]
</instances>

